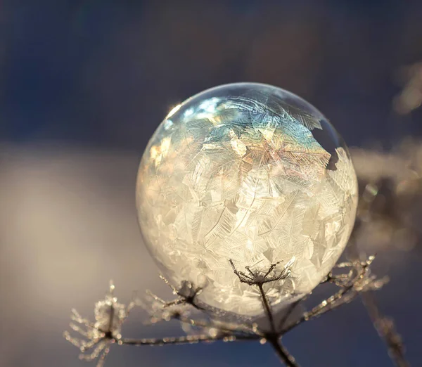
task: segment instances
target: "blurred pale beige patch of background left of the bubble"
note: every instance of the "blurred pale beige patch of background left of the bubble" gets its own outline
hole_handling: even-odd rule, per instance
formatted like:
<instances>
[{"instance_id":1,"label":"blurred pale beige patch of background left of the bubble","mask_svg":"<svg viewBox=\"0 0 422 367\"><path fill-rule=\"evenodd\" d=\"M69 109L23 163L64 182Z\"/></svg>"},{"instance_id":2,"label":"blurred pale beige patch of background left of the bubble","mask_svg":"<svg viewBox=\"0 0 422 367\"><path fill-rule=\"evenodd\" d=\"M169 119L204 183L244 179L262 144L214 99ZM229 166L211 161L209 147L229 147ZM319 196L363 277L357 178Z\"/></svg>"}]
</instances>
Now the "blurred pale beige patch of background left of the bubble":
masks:
<instances>
[{"instance_id":1,"label":"blurred pale beige patch of background left of the bubble","mask_svg":"<svg viewBox=\"0 0 422 367\"><path fill-rule=\"evenodd\" d=\"M91 316L110 278L124 302L165 288L136 219L139 157L61 144L0 157L0 366L51 366L59 351L57 366L91 366L61 336L70 309Z\"/></svg>"}]
</instances>

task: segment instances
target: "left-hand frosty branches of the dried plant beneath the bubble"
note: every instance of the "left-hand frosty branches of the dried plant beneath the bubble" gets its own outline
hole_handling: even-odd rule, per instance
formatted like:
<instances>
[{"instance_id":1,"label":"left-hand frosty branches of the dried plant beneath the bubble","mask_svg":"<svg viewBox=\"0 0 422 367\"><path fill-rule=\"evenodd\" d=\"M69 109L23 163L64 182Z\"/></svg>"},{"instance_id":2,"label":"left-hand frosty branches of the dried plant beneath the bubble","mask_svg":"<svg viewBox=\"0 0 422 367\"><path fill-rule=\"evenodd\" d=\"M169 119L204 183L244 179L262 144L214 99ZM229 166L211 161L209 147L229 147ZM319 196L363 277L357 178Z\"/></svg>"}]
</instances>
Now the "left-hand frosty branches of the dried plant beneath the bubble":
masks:
<instances>
[{"instance_id":1,"label":"left-hand frosty branches of the dried plant beneath the bubble","mask_svg":"<svg viewBox=\"0 0 422 367\"><path fill-rule=\"evenodd\" d=\"M161 277L165 283L168 284L164 277ZM153 295L151 292L149 295L153 297L153 300L161 305L163 313L160 319L163 321L178 320L181 323L186 323L190 326L197 327L206 331L207 333L186 335L180 337L162 337L162 338L142 338L142 339L131 339L124 338L120 334L122 323L129 316L129 311L134 307L135 302L131 302L127 307L124 304L117 302L117 298L114 297L115 286L110 282L110 289L104 300L98 301L95 305L94 314L95 322L83 318L79 313L72 310L72 321L80 324L81 326L71 323L70 328L75 330L82 337L72 337L68 331L65 331L65 339L71 342L73 345L78 347L82 354L79 356L80 359L87 361L93 361L98 359L97 367L103 366L106 356L110 352L110 345L179 345L179 344L194 344L198 342L215 342L222 340L223 342L235 342L235 341L248 341L248 340L260 340L262 334L254 327L249 327L247 324L244 326L231 325L230 323L220 323L212 320L195 320L188 318L184 310L177 309L176 307L193 307L194 309L200 309L196 307L194 297L198 295L198 288L193 287L187 282L182 283L184 287L181 290L177 290L176 294L179 296L178 302L165 302L159 297ZM172 288L174 289L174 288ZM179 300L187 300L186 302L179 302ZM172 309L172 311L167 312ZM200 309L202 311L202 309ZM155 317L156 317L155 313ZM85 354L85 352L93 349L91 354Z\"/></svg>"}]
</instances>

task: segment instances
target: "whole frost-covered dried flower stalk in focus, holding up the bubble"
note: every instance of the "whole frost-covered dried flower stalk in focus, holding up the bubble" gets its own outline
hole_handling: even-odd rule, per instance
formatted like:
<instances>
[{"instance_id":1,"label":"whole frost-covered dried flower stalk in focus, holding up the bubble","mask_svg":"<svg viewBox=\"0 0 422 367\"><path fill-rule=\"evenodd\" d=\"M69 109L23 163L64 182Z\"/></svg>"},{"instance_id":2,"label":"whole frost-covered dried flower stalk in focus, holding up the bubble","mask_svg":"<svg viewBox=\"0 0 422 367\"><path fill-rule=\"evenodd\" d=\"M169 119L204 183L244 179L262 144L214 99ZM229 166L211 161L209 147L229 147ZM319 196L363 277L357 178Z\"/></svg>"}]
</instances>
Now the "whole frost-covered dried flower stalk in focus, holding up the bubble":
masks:
<instances>
[{"instance_id":1,"label":"whole frost-covered dried flower stalk in focus, holding up the bubble","mask_svg":"<svg viewBox=\"0 0 422 367\"><path fill-rule=\"evenodd\" d=\"M279 356L279 359L288 367L298 367L295 358L289 354L286 347L281 343L281 337L289 330L299 326L301 323L308 321L316 316L325 314L331 309L339 307L341 304L350 302L352 298L359 292L366 292L367 290L375 290L380 288L385 281L378 280L371 276L369 266L373 261L373 257L369 257L365 262L347 262L338 264L338 269L348 269L346 274L334 275L328 274L326 282L331 282L340 287L340 290L335 295L329 297L327 300L321 302L318 306L314 307L311 311L305 312L298 320L290 323L286 328L283 324L288 320L293 309L303 300L298 300L293 303L286 311L285 316L276 328L274 323L274 314L271 309L271 304L267 299L263 285L271 281L279 281L286 279L290 275L290 266L293 264L294 259L290 260L283 267L280 273L275 272L276 264L269 266L266 271L252 271L246 267L248 274L243 271L238 271L234 263L230 261L234 272L239 280L250 286L256 286L260 290L262 297L262 306L264 308L267 320L270 324L270 330L260 328L257 324L248 324L244 321L239 322L224 322L215 319L215 315L202 307L198 307L196 303L196 295L200 292L192 283L182 282L181 288L171 287L177 299L166 302L160 297L148 293L151 297L152 303L148 306L143 304L153 318L153 322L157 321L170 321L176 320L182 324L186 324L193 328L199 329L199 333L193 335L184 335L179 337L162 337L154 339L129 339L122 337L120 334L122 323L129 316L129 310L134 307L134 302L131 302L127 307L124 304L118 303L117 298L114 297L114 285L110 283L110 290L104 300L96 303L94 313L95 321L82 318L76 310L72 310L72 320L76 323L71 323L71 328L82 337L72 337L70 333L65 332L65 338L73 345L77 346L82 354L81 358L88 361L98 359L97 367L103 366L110 345L177 345L177 344L193 344L198 342L238 342L238 341L257 341L260 340L261 344L268 341L274 351ZM166 284L170 283L161 277ZM200 318L196 319L191 316L191 312L195 311L200 314ZM385 326L383 326L385 330ZM91 354L86 354L88 350L93 350ZM392 349L393 351L395 349ZM407 367L406 365L398 365L399 367Z\"/></svg>"}]
</instances>

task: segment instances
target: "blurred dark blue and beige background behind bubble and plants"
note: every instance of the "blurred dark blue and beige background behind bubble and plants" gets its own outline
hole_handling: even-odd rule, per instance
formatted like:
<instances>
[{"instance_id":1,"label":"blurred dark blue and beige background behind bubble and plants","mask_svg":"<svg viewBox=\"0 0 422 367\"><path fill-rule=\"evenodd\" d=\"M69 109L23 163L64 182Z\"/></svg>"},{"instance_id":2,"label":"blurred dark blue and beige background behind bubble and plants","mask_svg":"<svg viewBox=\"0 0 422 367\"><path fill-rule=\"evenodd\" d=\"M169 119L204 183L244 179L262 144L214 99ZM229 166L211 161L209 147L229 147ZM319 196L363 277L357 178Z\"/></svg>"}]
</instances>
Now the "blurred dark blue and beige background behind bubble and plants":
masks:
<instances>
[{"instance_id":1,"label":"blurred dark blue and beige background behind bubble and plants","mask_svg":"<svg viewBox=\"0 0 422 367\"><path fill-rule=\"evenodd\" d=\"M422 60L421 19L419 0L0 0L0 366L89 366L61 336L70 309L91 315L110 278L124 302L164 291L134 187L172 106L218 84L274 84L316 105L350 146L388 150L422 135L407 68ZM421 366L421 245L376 250L391 278L381 308ZM124 333L177 335L144 317L135 311ZM359 300L285 343L302 366L390 366ZM278 361L269 346L214 343L114 347L106 366Z\"/></svg>"}]
</instances>

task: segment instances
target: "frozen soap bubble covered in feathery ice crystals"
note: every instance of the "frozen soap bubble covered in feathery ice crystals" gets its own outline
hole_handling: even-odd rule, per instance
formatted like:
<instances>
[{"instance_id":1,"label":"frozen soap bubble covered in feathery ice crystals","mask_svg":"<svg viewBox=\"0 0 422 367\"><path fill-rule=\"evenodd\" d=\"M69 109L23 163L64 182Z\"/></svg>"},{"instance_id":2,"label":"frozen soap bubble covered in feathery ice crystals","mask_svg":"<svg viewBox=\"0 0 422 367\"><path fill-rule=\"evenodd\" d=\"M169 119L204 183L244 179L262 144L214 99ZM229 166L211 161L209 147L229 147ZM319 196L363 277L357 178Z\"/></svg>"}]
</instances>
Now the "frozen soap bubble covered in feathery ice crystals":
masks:
<instances>
[{"instance_id":1,"label":"frozen soap bubble covered in feathery ice crystals","mask_svg":"<svg viewBox=\"0 0 422 367\"><path fill-rule=\"evenodd\" d=\"M357 179L343 139L316 108L265 84L217 86L177 105L148 143L136 202L143 239L169 280L198 302L263 314L246 276L280 310L332 269L352 231Z\"/></svg>"}]
</instances>

